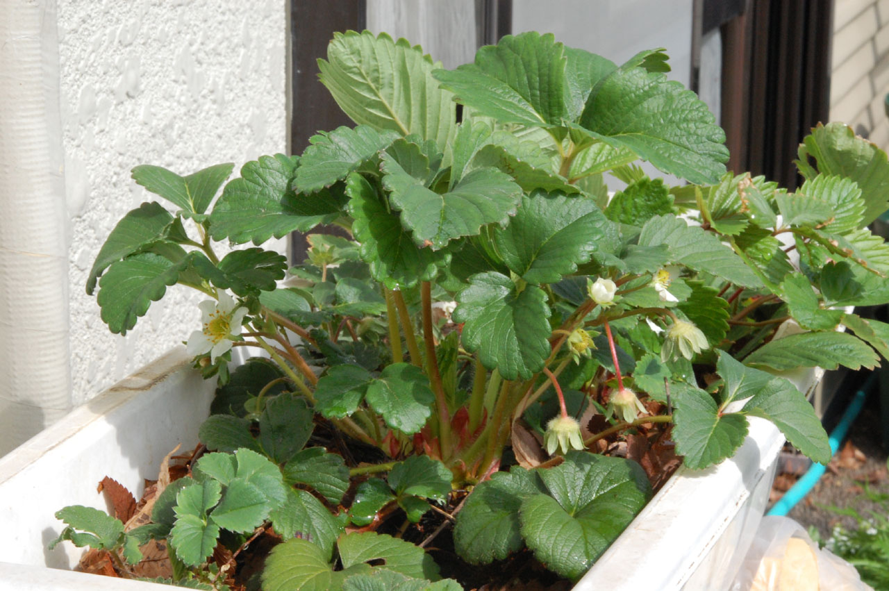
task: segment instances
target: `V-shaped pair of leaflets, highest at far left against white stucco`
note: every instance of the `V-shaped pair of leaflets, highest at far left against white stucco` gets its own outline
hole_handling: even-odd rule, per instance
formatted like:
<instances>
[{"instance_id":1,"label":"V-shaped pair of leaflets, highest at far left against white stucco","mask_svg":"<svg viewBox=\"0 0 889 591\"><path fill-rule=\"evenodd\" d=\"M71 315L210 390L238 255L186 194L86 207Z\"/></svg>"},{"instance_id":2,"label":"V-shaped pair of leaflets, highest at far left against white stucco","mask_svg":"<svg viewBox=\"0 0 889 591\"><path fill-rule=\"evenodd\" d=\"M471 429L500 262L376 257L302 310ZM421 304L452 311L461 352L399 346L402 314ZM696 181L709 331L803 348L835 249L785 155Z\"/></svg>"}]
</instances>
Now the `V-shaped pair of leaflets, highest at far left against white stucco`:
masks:
<instances>
[{"instance_id":1,"label":"V-shaped pair of leaflets, highest at far left against white stucco","mask_svg":"<svg viewBox=\"0 0 889 591\"><path fill-rule=\"evenodd\" d=\"M228 179L235 164L216 164L180 177L160 166L142 164L132 169L132 180L152 193L179 205L183 215L201 214L207 210L222 183Z\"/></svg>"}]
</instances>

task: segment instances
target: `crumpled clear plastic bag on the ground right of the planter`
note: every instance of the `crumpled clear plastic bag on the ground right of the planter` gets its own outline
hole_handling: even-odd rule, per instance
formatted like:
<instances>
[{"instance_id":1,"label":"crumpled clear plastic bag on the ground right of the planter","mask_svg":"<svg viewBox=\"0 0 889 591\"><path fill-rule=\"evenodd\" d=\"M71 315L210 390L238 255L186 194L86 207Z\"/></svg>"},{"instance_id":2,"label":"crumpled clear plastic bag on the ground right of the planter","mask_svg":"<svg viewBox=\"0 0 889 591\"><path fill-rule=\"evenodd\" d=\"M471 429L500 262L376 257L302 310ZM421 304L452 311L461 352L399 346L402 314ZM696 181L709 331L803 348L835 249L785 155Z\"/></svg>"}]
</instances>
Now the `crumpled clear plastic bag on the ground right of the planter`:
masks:
<instances>
[{"instance_id":1,"label":"crumpled clear plastic bag on the ground right of the planter","mask_svg":"<svg viewBox=\"0 0 889 591\"><path fill-rule=\"evenodd\" d=\"M789 517L766 515L731 591L873 591L852 564L819 549Z\"/></svg>"}]
</instances>

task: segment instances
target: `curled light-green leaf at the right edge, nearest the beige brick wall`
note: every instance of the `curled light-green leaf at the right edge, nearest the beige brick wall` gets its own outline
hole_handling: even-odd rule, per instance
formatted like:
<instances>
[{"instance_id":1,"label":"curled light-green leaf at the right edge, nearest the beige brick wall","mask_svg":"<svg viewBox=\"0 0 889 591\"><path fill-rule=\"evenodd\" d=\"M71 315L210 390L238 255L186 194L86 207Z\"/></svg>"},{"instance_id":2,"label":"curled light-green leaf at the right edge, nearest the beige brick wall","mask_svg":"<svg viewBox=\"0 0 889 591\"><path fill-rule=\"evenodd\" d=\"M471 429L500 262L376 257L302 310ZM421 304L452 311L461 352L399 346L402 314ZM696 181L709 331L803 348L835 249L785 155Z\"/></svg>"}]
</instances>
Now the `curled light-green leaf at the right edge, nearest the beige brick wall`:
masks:
<instances>
[{"instance_id":1,"label":"curled light-green leaf at the right edge, nearest the beige brick wall","mask_svg":"<svg viewBox=\"0 0 889 591\"><path fill-rule=\"evenodd\" d=\"M889 161L876 145L855 135L845 124L818 124L803 139L795 161L799 172L812 180L822 174L837 174L853 180L861 188L866 204L860 228L889 209ZM813 158L818 171L809 164Z\"/></svg>"}]
</instances>

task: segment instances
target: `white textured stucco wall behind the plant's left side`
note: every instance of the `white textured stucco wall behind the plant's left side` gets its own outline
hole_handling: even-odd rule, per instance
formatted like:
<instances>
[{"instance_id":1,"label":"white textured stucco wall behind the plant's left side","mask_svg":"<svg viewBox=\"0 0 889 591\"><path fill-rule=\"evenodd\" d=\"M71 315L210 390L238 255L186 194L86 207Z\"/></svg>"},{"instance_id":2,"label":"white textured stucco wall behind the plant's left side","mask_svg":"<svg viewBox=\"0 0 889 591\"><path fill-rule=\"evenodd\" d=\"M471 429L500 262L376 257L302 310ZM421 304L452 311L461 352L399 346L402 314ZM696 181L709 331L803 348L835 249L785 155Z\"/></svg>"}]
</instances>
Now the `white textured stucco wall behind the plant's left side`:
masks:
<instances>
[{"instance_id":1,"label":"white textured stucco wall behind the plant's left side","mask_svg":"<svg viewBox=\"0 0 889 591\"><path fill-rule=\"evenodd\" d=\"M273 0L59 0L58 15L77 404L196 328L202 294L174 286L126 337L112 335L86 275L116 221L149 198L134 165L237 171L284 152L286 20Z\"/></svg>"}]
</instances>

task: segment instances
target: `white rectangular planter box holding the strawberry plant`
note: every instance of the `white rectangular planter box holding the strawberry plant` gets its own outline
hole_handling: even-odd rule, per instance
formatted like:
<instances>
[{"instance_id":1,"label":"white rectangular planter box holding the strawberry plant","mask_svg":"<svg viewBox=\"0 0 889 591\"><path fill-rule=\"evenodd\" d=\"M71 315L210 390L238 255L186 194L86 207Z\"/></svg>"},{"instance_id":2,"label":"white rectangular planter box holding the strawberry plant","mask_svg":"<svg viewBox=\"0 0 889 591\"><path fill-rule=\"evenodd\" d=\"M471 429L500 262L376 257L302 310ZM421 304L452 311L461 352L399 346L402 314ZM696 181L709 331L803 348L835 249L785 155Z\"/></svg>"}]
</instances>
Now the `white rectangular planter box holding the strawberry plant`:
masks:
<instances>
[{"instance_id":1,"label":"white rectangular planter box holding the strawberry plant","mask_svg":"<svg viewBox=\"0 0 889 591\"><path fill-rule=\"evenodd\" d=\"M791 379L808 392L822 373ZM196 444L213 389L180 347L0 459L0 589L171 588L59 570L76 565L83 550L47 549L62 529L53 514L67 505L107 509L96 492L106 475L139 497L176 443L183 451ZM762 518L783 443L771 423L750 419L733 459L704 471L680 468L575 588L725 588Z\"/></svg>"}]
</instances>

